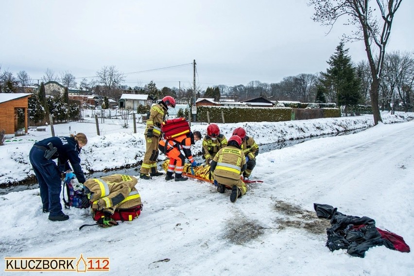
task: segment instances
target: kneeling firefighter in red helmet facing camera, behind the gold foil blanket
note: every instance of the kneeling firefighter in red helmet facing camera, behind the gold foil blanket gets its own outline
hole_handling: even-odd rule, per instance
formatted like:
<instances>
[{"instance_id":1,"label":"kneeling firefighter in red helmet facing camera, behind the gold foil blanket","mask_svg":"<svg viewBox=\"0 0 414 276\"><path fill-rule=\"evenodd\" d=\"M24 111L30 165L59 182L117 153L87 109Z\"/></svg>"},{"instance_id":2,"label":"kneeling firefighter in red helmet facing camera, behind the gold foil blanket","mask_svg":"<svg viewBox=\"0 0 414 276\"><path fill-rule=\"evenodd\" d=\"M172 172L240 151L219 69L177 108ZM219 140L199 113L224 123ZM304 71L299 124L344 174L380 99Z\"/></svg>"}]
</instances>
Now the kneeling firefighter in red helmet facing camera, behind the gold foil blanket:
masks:
<instances>
[{"instance_id":1,"label":"kneeling firefighter in red helmet facing camera, behind the gold foil blanket","mask_svg":"<svg viewBox=\"0 0 414 276\"><path fill-rule=\"evenodd\" d=\"M202 154L206 158L206 164L210 165L214 155L227 145L227 139L220 134L219 126L212 123L207 126L207 135L203 139Z\"/></svg>"}]
</instances>

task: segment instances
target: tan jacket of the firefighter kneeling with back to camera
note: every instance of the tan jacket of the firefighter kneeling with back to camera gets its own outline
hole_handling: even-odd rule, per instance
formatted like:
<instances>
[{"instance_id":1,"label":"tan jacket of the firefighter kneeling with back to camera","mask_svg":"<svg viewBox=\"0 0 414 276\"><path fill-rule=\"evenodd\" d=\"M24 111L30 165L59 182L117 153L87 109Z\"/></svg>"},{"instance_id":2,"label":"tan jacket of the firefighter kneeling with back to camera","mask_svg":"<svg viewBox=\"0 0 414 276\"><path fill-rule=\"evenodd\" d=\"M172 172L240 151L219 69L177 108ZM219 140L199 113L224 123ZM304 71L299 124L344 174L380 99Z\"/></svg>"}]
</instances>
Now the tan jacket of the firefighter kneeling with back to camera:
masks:
<instances>
[{"instance_id":1,"label":"tan jacket of the firefighter kneeling with back to camera","mask_svg":"<svg viewBox=\"0 0 414 276\"><path fill-rule=\"evenodd\" d=\"M246 167L243 151L235 146L226 146L214 156L210 170L219 183L228 184L226 179L230 182L240 180Z\"/></svg>"}]
</instances>

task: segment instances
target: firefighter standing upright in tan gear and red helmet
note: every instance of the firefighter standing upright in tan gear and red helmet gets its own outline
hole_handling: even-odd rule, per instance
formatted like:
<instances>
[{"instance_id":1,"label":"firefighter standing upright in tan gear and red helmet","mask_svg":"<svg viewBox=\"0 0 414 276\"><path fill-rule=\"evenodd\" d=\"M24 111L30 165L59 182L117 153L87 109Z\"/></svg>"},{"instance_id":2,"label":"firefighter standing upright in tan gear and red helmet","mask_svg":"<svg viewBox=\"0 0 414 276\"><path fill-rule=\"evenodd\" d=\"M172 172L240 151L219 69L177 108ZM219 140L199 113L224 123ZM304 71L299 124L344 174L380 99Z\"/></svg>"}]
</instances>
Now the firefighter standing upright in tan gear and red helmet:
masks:
<instances>
[{"instance_id":1,"label":"firefighter standing upright in tan gear and red helmet","mask_svg":"<svg viewBox=\"0 0 414 276\"><path fill-rule=\"evenodd\" d=\"M161 124L167 117L166 111L174 107L175 100L171 96L165 96L158 104L151 107L150 117L147 119L147 127L144 132L147 148L139 170L140 178L151 179L152 176L163 174L158 172L156 168L157 146L161 137Z\"/></svg>"}]
</instances>

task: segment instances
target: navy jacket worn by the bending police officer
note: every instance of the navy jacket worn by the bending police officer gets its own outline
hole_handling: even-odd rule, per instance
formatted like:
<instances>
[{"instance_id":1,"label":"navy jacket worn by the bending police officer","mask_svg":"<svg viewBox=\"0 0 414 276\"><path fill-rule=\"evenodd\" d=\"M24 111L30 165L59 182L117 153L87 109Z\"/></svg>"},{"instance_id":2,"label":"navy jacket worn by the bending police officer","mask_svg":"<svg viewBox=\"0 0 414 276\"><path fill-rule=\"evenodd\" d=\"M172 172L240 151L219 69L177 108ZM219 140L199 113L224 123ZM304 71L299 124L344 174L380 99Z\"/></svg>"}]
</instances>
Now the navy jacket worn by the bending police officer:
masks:
<instances>
[{"instance_id":1,"label":"navy jacket worn by the bending police officer","mask_svg":"<svg viewBox=\"0 0 414 276\"><path fill-rule=\"evenodd\" d=\"M70 166L68 164L69 161L79 183L84 183L85 175L82 172L80 165L81 158L79 158L81 149L79 148L78 143L75 141L75 138L63 136L51 137L38 141L35 143L35 145L48 148L48 143L52 143L53 147L57 148L57 153L59 154L57 157L59 171L64 172L70 170Z\"/></svg>"}]
</instances>

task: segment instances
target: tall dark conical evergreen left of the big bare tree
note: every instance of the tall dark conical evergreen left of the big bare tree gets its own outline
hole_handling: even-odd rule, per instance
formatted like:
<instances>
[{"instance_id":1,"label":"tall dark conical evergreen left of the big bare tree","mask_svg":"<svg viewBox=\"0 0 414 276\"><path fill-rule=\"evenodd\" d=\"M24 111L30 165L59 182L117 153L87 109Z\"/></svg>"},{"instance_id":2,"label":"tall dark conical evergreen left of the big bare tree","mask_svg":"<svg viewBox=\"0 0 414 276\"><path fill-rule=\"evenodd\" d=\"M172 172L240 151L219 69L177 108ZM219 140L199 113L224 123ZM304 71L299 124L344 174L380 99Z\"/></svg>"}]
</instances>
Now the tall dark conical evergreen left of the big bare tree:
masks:
<instances>
[{"instance_id":1,"label":"tall dark conical evergreen left of the big bare tree","mask_svg":"<svg viewBox=\"0 0 414 276\"><path fill-rule=\"evenodd\" d=\"M320 79L327 91L328 100L335 101L338 106L345 105L345 113L349 105L358 104L361 98L360 80L351 58L347 55L348 50L344 49L344 42L341 41L327 62L327 72L322 72Z\"/></svg>"}]
</instances>

